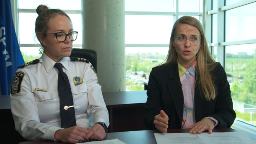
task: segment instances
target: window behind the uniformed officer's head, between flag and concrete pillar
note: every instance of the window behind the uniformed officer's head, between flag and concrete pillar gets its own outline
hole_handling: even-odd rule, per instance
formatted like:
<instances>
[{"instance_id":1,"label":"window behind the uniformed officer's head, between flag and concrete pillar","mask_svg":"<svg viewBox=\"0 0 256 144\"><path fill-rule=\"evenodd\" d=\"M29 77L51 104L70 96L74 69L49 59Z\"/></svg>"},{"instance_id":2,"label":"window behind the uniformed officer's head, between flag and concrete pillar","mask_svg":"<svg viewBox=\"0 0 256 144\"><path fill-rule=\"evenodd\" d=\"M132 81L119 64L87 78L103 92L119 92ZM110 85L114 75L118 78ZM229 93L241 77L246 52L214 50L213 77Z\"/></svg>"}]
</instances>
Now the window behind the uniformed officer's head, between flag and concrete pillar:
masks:
<instances>
[{"instance_id":1,"label":"window behind the uniformed officer's head, between flag and concrete pillar","mask_svg":"<svg viewBox=\"0 0 256 144\"><path fill-rule=\"evenodd\" d=\"M81 0L73 0L72 3L68 0L52 1L52 0L15 0L11 1L12 5L17 5L18 9L14 15L17 15L18 25L15 27L18 34L18 41L20 50L24 61L29 62L41 56L39 54L40 43L36 38L35 19L38 16L36 8L40 4L47 5L50 8L57 8L64 10L71 18L74 31L78 31L77 39L73 42L74 48L81 48L82 46L82 15L81 15ZM62 4L60 6L60 4Z\"/></svg>"}]
</instances>

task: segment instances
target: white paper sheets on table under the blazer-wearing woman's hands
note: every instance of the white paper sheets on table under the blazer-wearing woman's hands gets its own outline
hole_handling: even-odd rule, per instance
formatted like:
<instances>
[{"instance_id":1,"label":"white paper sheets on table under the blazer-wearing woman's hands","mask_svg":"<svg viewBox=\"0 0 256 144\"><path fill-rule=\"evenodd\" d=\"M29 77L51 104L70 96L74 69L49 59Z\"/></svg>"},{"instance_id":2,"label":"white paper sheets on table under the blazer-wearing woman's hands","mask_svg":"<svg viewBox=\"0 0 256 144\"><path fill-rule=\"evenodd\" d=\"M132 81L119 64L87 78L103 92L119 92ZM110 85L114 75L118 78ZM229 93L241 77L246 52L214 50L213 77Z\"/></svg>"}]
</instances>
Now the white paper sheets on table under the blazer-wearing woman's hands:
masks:
<instances>
[{"instance_id":1,"label":"white paper sheets on table under the blazer-wearing woman's hands","mask_svg":"<svg viewBox=\"0 0 256 144\"><path fill-rule=\"evenodd\" d=\"M256 140L242 132L224 133L155 133L158 144L256 144Z\"/></svg>"}]
</instances>

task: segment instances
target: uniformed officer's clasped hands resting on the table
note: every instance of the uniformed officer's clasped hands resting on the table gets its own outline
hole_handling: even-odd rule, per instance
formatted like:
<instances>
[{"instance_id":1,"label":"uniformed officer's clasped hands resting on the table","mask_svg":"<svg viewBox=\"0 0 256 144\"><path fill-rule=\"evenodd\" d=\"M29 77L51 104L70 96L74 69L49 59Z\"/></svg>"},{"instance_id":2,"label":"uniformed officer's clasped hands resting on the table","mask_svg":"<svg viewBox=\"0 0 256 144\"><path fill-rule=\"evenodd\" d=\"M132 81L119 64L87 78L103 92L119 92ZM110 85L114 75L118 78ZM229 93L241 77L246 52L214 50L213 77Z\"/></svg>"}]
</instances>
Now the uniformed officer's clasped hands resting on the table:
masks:
<instances>
[{"instance_id":1,"label":"uniformed officer's clasped hands resting on the table","mask_svg":"<svg viewBox=\"0 0 256 144\"><path fill-rule=\"evenodd\" d=\"M95 124L89 129L73 126L66 129L59 129L54 134L54 139L66 143L79 143L90 140L103 140L106 132L100 124Z\"/></svg>"}]
</instances>

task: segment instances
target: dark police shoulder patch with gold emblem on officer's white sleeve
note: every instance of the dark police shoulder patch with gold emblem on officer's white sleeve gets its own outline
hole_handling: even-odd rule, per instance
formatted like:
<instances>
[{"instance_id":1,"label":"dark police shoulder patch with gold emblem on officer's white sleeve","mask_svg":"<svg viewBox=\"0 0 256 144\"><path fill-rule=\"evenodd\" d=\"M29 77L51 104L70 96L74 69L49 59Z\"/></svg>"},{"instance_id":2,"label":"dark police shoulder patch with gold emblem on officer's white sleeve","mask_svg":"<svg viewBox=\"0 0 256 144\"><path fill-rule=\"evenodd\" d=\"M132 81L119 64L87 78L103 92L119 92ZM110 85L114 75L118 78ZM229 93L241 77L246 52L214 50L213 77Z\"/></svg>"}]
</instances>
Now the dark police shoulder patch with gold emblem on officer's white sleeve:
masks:
<instances>
[{"instance_id":1,"label":"dark police shoulder patch with gold emblem on officer's white sleeve","mask_svg":"<svg viewBox=\"0 0 256 144\"><path fill-rule=\"evenodd\" d=\"M14 74L12 83L11 83L11 94L18 94L20 93L20 86L23 80L25 73L23 72L16 72Z\"/></svg>"}]
</instances>

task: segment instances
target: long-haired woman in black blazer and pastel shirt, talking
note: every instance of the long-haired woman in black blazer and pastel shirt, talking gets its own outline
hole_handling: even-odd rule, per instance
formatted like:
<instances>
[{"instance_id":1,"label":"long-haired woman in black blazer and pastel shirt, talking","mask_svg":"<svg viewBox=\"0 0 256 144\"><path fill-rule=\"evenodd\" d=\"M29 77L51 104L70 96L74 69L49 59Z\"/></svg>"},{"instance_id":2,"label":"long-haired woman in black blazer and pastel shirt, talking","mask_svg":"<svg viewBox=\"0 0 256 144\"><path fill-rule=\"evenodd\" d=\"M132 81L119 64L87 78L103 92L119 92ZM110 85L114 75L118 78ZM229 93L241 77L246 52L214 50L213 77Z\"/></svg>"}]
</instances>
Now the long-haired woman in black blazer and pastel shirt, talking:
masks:
<instances>
[{"instance_id":1,"label":"long-haired woman in black blazer and pastel shirt, talking","mask_svg":"<svg viewBox=\"0 0 256 144\"><path fill-rule=\"evenodd\" d=\"M149 75L145 123L149 129L190 128L212 133L236 117L224 68L212 58L201 23L183 16L172 29L166 62Z\"/></svg>"}]
</instances>

